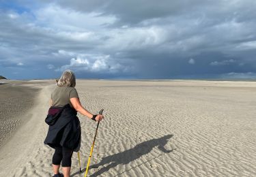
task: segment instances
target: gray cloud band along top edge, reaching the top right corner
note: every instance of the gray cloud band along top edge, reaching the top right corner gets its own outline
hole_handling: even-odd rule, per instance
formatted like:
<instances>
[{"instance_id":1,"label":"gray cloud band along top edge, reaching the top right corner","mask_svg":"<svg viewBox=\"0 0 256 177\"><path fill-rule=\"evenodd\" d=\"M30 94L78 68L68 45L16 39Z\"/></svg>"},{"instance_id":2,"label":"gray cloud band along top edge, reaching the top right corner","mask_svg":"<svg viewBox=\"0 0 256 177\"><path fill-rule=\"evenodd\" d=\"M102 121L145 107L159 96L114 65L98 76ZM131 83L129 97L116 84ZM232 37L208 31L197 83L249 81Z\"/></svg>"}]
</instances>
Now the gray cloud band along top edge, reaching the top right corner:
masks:
<instances>
[{"instance_id":1,"label":"gray cloud band along top edge, reaching the top right corner","mask_svg":"<svg viewBox=\"0 0 256 177\"><path fill-rule=\"evenodd\" d=\"M48 1L46 2L53 2ZM80 12L99 12L102 15L114 15L123 23L138 23L154 18L166 18L188 15L190 18L207 16L208 23L215 24L225 20L236 18L238 21L254 20L255 1L57 1L65 8L71 8ZM243 10L243 11L242 11Z\"/></svg>"}]
</instances>

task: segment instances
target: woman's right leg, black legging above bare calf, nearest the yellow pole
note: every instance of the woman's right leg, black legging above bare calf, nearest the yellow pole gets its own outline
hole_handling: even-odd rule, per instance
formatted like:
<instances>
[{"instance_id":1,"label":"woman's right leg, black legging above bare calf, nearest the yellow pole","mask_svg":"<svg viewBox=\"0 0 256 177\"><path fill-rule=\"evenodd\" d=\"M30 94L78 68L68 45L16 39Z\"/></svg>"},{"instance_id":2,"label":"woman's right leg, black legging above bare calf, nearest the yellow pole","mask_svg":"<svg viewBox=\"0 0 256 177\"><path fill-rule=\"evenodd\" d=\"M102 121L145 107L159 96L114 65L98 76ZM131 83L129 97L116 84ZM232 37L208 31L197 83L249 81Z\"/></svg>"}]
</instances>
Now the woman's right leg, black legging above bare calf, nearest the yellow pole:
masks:
<instances>
[{"instance_id":1,"label":"woman's right leg, black legging above bare calf, nearest the yellow pole","mask_svg":"<svg viewBox=\"0 0 256 177\"><path fill-rule=\"evenodd\" d=\"M62 171L64 177L70 177L70 167L71 167L71 158L72 158L73 150L69 148L62 147Z\"/></svg>"}]
</instances>

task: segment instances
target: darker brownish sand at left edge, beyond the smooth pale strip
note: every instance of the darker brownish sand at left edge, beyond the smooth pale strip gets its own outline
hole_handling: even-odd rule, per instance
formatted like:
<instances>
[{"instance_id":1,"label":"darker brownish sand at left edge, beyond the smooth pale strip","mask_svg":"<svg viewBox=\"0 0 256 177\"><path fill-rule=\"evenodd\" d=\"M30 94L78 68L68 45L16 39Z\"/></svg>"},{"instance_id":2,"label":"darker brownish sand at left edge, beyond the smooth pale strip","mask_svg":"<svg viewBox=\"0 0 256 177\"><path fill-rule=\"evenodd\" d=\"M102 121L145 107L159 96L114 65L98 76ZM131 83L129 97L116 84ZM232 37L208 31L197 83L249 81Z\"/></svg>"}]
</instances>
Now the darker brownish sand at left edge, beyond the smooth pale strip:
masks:
<instances>
[{"instance_id":1,"label":"darker brownish sand at left edge, beyond the smooth pale strip","mask_svg":"<svg viewBox=\"0 0 256 177\"><path fill-rule=\"evenodd\" d=\"M26 82L0 80L0 148L16 129L27 120L20 115L29 112L39 88L25 86Z\"/></svg>"}]
</instances>

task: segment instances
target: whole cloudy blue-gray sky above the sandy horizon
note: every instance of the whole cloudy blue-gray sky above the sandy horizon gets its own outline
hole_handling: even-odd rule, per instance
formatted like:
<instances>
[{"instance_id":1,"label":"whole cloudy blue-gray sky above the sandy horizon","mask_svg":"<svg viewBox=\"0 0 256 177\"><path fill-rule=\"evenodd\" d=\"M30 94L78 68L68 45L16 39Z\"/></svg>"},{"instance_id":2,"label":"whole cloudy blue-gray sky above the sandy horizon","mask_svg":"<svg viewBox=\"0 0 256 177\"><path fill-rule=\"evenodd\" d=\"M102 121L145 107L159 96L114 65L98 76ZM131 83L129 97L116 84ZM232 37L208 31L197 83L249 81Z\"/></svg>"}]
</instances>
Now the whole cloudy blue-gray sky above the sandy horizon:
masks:
<instances>
[{"instance_id":1,"label":"whole cloudy blue-gray sky above the sandy horizon","mask_svg":"<svg viewBox=\"0 0 256 177\"><path fill-rule=\"evenodd\" d=\"M10 79L254 79L255 0L0 0Z\"/></svg>"}]
</instances>

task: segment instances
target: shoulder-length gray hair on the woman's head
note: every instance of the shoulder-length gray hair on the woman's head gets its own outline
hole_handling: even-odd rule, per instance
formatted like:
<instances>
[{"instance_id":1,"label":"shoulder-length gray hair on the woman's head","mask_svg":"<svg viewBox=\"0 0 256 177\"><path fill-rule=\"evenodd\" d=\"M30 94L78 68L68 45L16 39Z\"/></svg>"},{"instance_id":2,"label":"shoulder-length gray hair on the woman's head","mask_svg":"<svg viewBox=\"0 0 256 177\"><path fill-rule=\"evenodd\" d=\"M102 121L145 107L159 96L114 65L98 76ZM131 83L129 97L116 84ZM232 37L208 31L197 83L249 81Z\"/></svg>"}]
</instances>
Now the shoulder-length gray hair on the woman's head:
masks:
<instances>
[{"instance_id":1,"label":"shoulder-length gray hair on the woman's head","mask_svg":"<svg viewBox=\"0 0 256 177\"><path fill-rule=\"evenodd\" d=\"M76 76L74 76L74 72L69 69L64 71L57 82L57 86L76 86Z\"/></svg>"}]
</instances>

